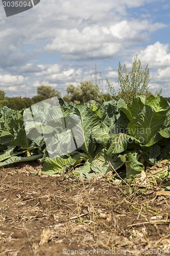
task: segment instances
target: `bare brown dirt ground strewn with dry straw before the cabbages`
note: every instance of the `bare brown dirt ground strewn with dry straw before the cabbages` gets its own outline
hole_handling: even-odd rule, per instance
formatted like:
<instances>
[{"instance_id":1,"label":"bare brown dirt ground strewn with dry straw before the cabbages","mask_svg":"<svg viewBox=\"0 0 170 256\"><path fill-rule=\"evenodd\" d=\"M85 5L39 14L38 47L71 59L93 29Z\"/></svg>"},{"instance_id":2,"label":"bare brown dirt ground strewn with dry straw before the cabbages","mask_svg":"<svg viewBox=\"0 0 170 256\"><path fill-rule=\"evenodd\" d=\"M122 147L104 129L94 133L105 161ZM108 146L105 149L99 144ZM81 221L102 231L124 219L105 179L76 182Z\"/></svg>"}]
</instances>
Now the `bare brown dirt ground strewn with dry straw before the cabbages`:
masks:
<instances>
[{"instance_id":1,"label":"bare brown dirt ground strewn with dry straw before the cabbages","mask_svg":"<svg viewBox=\"0 0 170 256\"><path fill-rule=\"evenodd\" d=\"M168 255L170 193L0 170L0 255Z\"/></svg>"}]
</instances>

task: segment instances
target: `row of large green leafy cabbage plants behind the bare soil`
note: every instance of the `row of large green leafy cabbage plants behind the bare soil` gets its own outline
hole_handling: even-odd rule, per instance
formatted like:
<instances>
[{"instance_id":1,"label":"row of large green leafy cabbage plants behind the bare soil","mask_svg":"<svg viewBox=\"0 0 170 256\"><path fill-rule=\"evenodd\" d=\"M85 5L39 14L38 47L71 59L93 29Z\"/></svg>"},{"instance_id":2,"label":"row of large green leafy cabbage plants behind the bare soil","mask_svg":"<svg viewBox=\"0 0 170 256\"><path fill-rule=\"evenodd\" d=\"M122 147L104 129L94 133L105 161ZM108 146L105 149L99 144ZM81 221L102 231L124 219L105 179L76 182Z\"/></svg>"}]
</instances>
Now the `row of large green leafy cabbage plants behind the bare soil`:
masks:
<instances>
[{"instance_id":1,"label":"row of large green leafy cabbage plants behind the bare soil","mask_svg":"<svg viewBox=\"0 0 170 256\"><path fill-rule=\"evenodd\" d=\"M148 99L138 96L129 104L119 99L103 105L94 100L75 105L61 98L59 103L53 107L50 118L42 122L51 107L44 101L38 109L38 121L31 119L30 112L27 127L23 121L25 110L14 111L6 106L0 109L0 167L37 159L42 174L92 178L115 171L126 180L144 171L146 166L170 160L170 104L162 96ZM61 114L64 129L55 121ZM74 125L66 125L68 118L75 116L79 122L74 119ZM45 136L51 138L48 145ZM71 151L75 141L76 148ZM53 152L58 152L58 156L49 157ZM169 174L167 167L162 184L167 190L170 190Z\"/></svg>"}]
</instances>

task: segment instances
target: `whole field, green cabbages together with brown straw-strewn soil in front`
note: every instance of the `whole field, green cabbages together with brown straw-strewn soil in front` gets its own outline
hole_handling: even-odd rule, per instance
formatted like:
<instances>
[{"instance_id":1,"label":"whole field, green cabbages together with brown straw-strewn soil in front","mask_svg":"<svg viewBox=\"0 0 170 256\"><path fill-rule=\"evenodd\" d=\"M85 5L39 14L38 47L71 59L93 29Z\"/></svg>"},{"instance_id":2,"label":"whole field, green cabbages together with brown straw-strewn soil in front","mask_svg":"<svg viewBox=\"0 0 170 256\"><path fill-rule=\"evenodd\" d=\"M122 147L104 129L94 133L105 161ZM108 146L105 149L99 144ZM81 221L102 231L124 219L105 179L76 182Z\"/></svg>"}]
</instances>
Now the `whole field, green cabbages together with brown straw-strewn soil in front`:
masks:
<instances>
[{"instance_id":1,"label":"whole field, green cabbages together with brown straw-strewn soil in front","mask_svg":"<svg viewBox=\"0 0 170 256\"><path fill-rule=\"evenodd\" d=\"M169 255L161 96L0 108L1 255Z\"/></svg>"}]
</instances>

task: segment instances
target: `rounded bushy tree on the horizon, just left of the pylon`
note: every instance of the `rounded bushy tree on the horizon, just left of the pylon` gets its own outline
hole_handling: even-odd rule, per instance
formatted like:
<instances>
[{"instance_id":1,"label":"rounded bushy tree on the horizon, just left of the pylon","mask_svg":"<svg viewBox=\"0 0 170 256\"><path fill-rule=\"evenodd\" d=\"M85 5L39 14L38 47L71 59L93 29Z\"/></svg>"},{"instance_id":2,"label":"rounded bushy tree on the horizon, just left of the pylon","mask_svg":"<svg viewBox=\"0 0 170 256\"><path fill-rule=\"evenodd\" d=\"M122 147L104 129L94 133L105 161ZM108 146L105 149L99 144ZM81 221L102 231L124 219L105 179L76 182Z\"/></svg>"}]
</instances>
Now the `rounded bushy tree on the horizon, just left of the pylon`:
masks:
<instances>
[{"instance_id":1,"label":"rounded bushy tree on the horizon, just left of the pylon","mask_svg":"<svg viewBox=\"0 0 170 256\"><path fill-rule=\"evenodd\" d=\"M65 97L76 104L86 103L89 100L101 102L99 88L91 81L81 82L78 87L75 87L73 84L69 84L67 87L67 95Z\"/></svg>"}]
</instances>

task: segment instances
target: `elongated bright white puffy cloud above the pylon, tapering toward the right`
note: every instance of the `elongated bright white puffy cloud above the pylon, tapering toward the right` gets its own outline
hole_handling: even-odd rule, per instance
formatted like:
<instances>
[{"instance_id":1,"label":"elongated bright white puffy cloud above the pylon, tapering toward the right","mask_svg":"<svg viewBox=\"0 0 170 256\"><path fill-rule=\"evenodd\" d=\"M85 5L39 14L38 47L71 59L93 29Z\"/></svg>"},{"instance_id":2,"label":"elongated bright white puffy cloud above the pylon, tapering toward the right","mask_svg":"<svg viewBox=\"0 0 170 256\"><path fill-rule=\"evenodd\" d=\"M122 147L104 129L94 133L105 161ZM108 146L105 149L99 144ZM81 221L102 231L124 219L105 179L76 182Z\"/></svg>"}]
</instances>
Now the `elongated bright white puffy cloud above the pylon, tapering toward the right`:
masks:
<instances>
[{"instance_id":1,"label":"elongated bright white puffy cloud above the pylon, tapering toward the right","mask_svg":"<svg viewBox=\"0 0 170 256\"><path fill-rule=\"evenodd\" d=\"M83 29L56 29L52 42L44 50L60 52L64 60L114 57L127 45L142 41L146 31L153 32L164 27L161 23L151 24L148 20L122 20L109 27L95 25Z\"/></svg>"}]
</instances>

